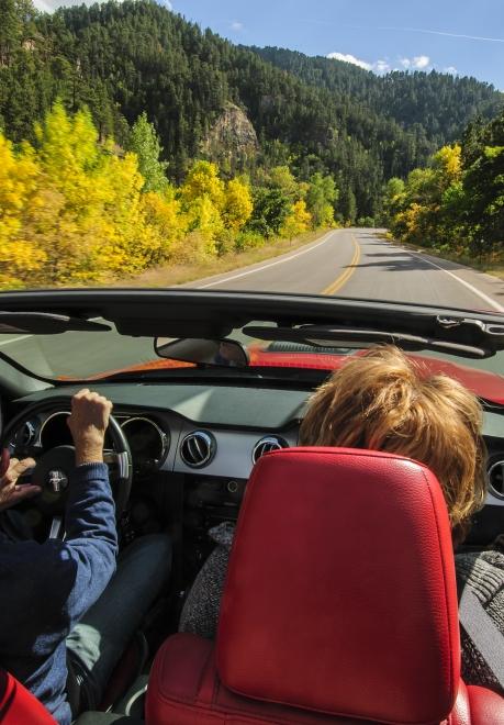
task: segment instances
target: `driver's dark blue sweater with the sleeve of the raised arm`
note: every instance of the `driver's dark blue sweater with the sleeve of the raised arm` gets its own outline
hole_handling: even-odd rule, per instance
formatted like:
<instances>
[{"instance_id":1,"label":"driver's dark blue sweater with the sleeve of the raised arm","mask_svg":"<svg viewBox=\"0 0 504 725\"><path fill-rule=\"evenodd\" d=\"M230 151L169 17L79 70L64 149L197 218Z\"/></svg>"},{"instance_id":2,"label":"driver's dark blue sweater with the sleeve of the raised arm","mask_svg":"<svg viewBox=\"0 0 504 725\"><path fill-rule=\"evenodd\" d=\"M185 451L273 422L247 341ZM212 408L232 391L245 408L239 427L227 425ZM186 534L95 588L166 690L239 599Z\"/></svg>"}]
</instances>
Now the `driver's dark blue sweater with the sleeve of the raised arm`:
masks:
<instances>
[{"instance_id":1,"label":"driver's dark blue sweater with the sleeve of the raised arm","mask_svg":"<svg viewBox=\"0 0 504 725\"><path fill-rule=\"evenodd\" d=\"M45 658L97 601L115 569L115 511L104 464L75 469L65 540L1 543L0 655Z\"/></svg>"}]
</instances>

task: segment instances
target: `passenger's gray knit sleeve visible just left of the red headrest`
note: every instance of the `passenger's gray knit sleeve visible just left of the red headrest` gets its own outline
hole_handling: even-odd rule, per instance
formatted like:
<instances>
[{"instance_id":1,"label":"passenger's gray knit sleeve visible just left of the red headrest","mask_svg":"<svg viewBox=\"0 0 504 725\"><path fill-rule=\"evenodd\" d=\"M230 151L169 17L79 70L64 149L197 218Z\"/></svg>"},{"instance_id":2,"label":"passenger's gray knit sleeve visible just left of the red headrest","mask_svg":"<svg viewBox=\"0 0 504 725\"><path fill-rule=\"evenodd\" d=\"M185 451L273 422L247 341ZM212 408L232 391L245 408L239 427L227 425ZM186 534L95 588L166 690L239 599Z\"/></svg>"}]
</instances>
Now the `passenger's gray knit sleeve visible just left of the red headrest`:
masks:
<instances>
[{"instance_id":1,"label":"passenger's gray knit sleeve visible just left of the red headrest","mask_svg":"<svg viewBox=\"0 0 504 725\"><path fill-rule=\"evenodd\" d=\"M180 615L179 632L192 632L200 637L214 639L234 526L221 524L210 529L209 534L217 542L217 546L200 569L189 591Z\"/></svg>"}]
</instances>

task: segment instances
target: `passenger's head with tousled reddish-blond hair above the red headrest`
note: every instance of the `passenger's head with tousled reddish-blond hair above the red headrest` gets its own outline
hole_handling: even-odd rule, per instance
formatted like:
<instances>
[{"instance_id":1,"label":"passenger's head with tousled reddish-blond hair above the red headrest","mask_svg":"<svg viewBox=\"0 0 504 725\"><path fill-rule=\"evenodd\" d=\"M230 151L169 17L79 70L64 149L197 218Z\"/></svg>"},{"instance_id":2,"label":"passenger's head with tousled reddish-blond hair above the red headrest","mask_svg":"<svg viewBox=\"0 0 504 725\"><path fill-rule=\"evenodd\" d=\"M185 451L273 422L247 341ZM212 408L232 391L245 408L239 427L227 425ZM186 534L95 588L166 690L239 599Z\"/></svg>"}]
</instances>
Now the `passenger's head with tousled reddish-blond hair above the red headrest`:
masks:
<instances>
[{"instance_id":1,"label":"passenger's head with tousled reddish-blond hair above the red headrest","mask_svg":"<svg viewBox=\"0 0 504 725\"><path fill-rule=\"evenodd\" d=\"M385 450L425 464L445 493L460 540L485 497L482 410L445 375L428 375L396 347L351 357L311 398L300 431L306 446Z\"/></svg>"}]
</instances>

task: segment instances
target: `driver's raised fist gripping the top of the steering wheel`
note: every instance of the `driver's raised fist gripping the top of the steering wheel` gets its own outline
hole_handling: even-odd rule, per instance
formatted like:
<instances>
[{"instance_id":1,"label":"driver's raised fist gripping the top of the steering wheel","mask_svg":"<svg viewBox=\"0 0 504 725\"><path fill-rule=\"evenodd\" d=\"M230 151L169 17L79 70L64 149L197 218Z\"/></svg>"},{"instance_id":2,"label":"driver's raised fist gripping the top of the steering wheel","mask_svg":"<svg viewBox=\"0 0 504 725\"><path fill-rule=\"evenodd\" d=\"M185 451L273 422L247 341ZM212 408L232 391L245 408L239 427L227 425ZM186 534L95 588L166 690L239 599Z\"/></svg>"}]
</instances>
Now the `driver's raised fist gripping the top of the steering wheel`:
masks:
<instances>
[{"instance_id":1,"label":"driver's raised fist gripping the top of the steering wheel","mask_svg":"<svg viewBox=\"0 0 504 725\"><path fill-rule=\"evenodd\" d=\"M67 423L76 447L76 466L103 462L103 444L112 403L103 395L79 390L71 399Z\"/></svg>"}]
</instances>

